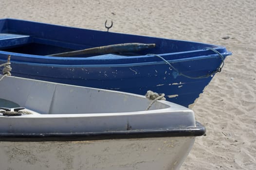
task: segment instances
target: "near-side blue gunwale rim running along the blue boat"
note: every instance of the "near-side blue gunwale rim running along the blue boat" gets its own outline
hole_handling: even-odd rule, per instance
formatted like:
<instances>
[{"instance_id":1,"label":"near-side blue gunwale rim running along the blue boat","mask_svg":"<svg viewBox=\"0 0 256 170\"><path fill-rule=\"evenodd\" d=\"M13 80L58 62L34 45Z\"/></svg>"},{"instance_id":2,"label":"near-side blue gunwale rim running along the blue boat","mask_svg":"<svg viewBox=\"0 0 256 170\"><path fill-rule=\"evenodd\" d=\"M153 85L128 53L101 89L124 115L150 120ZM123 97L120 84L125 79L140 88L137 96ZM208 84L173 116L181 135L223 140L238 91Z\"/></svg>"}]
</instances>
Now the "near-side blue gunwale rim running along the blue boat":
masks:
<instances>
[{"instance_id":1,"label":"near-side blue gunwale rim running along the blue boat","mask_svg":"<svg viewBox=\"0 0 256 170\"><path fill-rule=\"evenodd\" d=\"M223 49L223 48L221 48ZM199 50L199 51L202 51L202 50ZM121 60L124 59L124 60L127 60L127 58L102 58L102 59L93 59L93 58L88 58L88 57L48 57L48 56L41 56L41 55L28 55L28 54L22 54L22 53L16 53L16 52L7 52L7 51L0 51L0 55L3 55L3 54L6 54L6 56L8 55L11 55L12 57L11 58L16 58L16 57L22 57L21 60L17 60L17 59L11 59L11 62L12 63L17 63L17 64L29 64L29 65L34 65L34 66L54 66L54 67L67 67L67 66L70 66L70 67L130 67L130 66L142 66L142 65L156 65L156 64L164 64L165 61L163 61L162 59L154 56L154 54L152 55L141 55L141 56L133 56L133 57L130 57L128 60L132 60L132 59L135 59L136 58L140 58L141 60L143 59L146 59L146 58L153 58L155 57L155 61L145 61L145 62L139 62L139 63L136 63L136 62L122 62ZM186 51L186 52L191 52L191 51ZM185 54L186 52L183 52L183 54ZM198 52L198 51L193 51L193 52ZM157 54L161 57L170 57L171 55L175 55L177 53L165 53L165 54ZM230 55L231 52L224 52L222 53L222 55L227 56L227 55ZM107 55L107 54L106 54ZM35 62L35 61L26 61L24 60L24 58L28 58L28 59L42 59L42 60L48 60L46 62ZM45 58L43 58L45 57ZM195 60L202 60L202 59L209 59L209 58L216 58L216 57L219 57L219 55L217 53L215 54L209 54L209 55L200 55L200 56L194 56L194 57L187 57L187 58L180 58L180 59L167 59L166 61L168 61L169 63L179 63L179 62L186 62L186 61L195 61ZM53 64L52 60L55 60L56 62ZM106 62L106 60L109 60L109 61L121 61L121 63L115 63L115 64L103 64ZM1 59L0 58L0 61L1 62L5 62L6 60L4 59ZM61 61L61 62L59 62ZM86 64L86 63L81 63L81 64L70 64L70 62L101 62L101 64ZM58 63L59 62L59 63Z\"/></svg>"}]
</instances>

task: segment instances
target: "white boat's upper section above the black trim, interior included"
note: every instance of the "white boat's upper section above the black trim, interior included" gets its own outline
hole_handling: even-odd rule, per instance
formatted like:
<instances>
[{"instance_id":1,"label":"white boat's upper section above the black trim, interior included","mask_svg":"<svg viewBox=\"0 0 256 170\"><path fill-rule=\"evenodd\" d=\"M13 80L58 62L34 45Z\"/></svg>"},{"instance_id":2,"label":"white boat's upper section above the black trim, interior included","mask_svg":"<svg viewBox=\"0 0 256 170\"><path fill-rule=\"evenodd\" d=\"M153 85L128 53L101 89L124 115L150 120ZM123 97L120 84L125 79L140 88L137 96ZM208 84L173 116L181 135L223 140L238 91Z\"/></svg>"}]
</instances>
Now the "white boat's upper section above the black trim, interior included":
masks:
<instances>
[{"instance_id":1,"label":"white boat's upper section above the black trim, interior included","mask_svg":"<svg viewBox=\"0 0 256 170\"><path fill-rule=\"evenodd\" d=\"M0 129L1 133L81 133L196 127L192 110L157 101L146 111L150 102L125 92L5 76L0 81L0 107L25 109L21 116L0 114Z\"/></svg>"}]
</instances>

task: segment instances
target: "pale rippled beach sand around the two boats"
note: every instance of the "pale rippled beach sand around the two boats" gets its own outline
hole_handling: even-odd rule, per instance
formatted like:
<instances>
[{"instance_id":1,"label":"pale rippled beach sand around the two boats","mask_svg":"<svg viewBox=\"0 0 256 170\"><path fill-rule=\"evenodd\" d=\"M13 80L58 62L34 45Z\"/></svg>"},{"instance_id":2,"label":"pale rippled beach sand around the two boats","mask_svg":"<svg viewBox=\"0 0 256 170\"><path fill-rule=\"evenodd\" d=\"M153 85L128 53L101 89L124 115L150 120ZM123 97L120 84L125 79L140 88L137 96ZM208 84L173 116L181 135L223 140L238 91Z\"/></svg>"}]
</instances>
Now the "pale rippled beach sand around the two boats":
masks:
<instances>
[{"instance_id":1,"label":"pale rippled beach sand around the two boats","mask_svg":"<svg viewBox=\"0 0 256 170\"><path fill-rule=\"evenodd\" d=\"M110 32L225 46L233 55L192 108L207 136L181 170L255 170L255 8L255 0L0 0L0 18L103 31L108 19Z\"/></svg>"}]
</instances>

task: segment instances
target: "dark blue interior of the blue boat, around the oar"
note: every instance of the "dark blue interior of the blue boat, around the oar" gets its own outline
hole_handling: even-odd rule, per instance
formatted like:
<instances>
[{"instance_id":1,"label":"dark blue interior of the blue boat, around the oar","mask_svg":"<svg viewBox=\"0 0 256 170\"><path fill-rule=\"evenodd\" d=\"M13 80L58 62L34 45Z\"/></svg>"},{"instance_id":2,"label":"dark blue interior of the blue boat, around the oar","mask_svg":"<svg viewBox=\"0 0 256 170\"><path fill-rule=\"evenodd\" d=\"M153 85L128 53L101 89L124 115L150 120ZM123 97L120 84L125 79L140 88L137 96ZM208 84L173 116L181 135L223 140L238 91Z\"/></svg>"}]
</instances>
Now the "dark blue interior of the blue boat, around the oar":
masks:
<instances>
[{"instance_id":1,"label":"dark blue interior of the blue boat, around the oar","mask_svg":"<svg viewBox=\"0 0 256 170\"><path fill-rule=\"evenodd\" d=\"M215 45L198 42L95 30L85 31L85 29L24 20L0 19L0 51L32 55L50 55L123 43L154 43L156 47L143 51L118 53L117 55L120 57L140 56L149 53L168 54L184 51L199 51L206 47L217 48ZM176 55L176 57L180 59L182 56Z\"/></svg>"}]
</instances>

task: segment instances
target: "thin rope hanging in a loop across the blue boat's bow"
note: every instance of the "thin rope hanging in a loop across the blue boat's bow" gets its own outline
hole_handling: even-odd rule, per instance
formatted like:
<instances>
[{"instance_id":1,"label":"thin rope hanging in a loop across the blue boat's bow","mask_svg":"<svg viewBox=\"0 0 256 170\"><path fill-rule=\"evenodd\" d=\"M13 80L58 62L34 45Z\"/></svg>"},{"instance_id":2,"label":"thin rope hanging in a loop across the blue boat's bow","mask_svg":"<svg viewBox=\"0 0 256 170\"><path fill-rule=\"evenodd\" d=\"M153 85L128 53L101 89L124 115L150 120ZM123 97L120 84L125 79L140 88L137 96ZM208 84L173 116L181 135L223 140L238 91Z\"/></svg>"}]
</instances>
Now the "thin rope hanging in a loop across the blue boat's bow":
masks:
<instances>
[{"instance_id":1,"label":"thin rope hanging in a loop across the blue boat's bow","mask_svg":"<svg viewBox=\"0 0 256 170\"><path fill-rule=\"evenodd\" d=\"M164 59L163 57L161 57L160 55L157 55L157 54L147 54L147 55L154 55L154 56L157 56L157 57L161 58L162 60L164 60L166 64L168 64L172 69L174 69L174 70L178 73L177 76L182 75L182 76L184 76L184 77L186 77L186 78L190 78L190 79L201 79L201 78L212 77L213 74L215 74L215 73L217 73L217 72L220 72L221 69L222 69L223 66L224 66L224 57L223 57L223 55L222 55L221 53L219 53L219 51L217 51L217 50L215 50L215 49L213 49L213 48L211 48L211 47L204 48L203 50L211 50L211 51L216 52L216 53L219 55L219 57L221 58L222 62L220 63L219 68L217 68L216 70L214 70L214 71L212 71L211 73L208 73L208 74L206 74L206 75L198 76L198 77L191 77L191 76L188 76L188 75L183 74L183 73L180 72L178 69L176 69L175 67L173 67L167 60L165 60L165 59Z\"/></svg>"}]
</instances>

